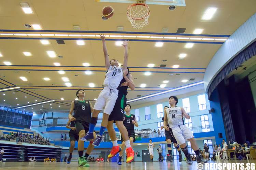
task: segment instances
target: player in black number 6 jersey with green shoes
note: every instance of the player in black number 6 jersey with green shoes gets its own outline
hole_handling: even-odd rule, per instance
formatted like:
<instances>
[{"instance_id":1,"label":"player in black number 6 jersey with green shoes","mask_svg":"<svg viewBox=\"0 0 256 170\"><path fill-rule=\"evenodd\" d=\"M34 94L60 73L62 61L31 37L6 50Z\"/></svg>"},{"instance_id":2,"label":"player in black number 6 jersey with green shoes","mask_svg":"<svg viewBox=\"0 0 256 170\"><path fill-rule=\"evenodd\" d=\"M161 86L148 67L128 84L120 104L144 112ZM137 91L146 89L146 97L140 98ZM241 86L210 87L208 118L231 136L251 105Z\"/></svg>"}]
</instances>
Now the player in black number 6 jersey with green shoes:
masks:
<instances>
[{"instance_id":1,"label":"player in black number 6 jersey with green shoes","mask_svg":"<svg viewBox=\"0 0 256 170\"><path fill-rule=\"evenodd\" d=\"M84 90L79 89L76 92L76 97L79 100L74 100L71 103L71 108L69 111L69 120L70 121L75 121L75 128L76 128L76 133L79 135L79 137L83 137L86 132L89 130L89 122L91 120L91 111L93 110L93 107L91 106L91 103L89 101L85 101L85 93ZM72 116L73 111L75 110L74 116ZM95 132L93 134L93 139L91 139L90 144L87 148L87 151L85 153L85 156L83 156L84 153L84 141L78 140L78 166L89 166L87 164L87 157L93 150L94 146L92 145L93 140L96 137Z\"/></svg>"}]
</instances>

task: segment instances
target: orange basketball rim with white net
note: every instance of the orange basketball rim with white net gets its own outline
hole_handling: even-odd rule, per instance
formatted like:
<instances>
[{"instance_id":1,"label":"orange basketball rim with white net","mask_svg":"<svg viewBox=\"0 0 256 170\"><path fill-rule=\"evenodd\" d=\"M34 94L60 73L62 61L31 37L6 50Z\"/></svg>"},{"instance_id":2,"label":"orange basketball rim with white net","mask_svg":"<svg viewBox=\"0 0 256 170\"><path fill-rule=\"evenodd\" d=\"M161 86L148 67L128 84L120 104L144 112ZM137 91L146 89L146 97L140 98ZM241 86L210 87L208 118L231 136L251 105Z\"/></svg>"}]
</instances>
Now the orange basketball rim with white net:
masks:
<instances>
[{"instance_id":1,"label":"orange basketball rim with white net","mask_svg":"<svg viewBox=\"0 0 256 170\"><path fill-rule=\"evenodd\" d=\"M127 17L131 22L131 26L136 29L141 29L148 24L150 9L144 3L131 4L127 9Z\"/></svg>"}]
</instances>

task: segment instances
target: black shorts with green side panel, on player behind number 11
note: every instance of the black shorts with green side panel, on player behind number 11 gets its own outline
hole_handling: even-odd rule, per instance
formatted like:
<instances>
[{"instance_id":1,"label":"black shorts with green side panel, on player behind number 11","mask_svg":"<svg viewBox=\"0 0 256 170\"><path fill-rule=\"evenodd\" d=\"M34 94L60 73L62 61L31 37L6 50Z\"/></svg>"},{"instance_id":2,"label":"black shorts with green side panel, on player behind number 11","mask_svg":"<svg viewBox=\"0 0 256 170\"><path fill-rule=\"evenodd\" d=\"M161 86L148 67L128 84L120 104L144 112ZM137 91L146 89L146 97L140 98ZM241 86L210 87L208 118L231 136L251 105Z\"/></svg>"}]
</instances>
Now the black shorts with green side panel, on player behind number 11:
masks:
<instances>
[{"instance_id":1,"label":"black shorts with green side panel, on player behind number 11","mask_svg":"<svg viewBox=\"0 0 256 170\"><path fill-rule=\"evenodd\" d=\"M118 96L118 98L116 99L116 103L115 106L113 108L113 111L111 112L110 116L109 116L109 121L114 120L118 120L118 121L123 121L124 120L124 109L126 106L126 101L127 98L125 97L125 95L123 96Z\"/></svg>"}]
</instances>

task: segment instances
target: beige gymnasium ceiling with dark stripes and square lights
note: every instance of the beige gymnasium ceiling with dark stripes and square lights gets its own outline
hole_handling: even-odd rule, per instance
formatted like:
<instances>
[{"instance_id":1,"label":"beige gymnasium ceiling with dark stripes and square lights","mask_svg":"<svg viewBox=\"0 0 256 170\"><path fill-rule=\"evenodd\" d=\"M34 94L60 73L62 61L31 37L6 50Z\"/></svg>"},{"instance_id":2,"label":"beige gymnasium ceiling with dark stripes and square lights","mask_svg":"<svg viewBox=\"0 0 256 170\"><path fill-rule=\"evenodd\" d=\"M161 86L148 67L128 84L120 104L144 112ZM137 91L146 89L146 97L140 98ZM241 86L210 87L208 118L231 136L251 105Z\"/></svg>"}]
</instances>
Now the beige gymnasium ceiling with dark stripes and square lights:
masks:
<instances>
[{"instance_id":1,"label":"beige gymnasium ceiling with dark stripes and square lights","mask_svg":"<svg viewBox=\"0 0 256 170\"><path fill-rule=\"evenodd\" d=\"M19 2L27 2L33 14L25 14ZM76 89L80 87L86 89L86 100L95 102L94 99L102 89L105 71L102 43L99 37L9 36L4 35L6 33L98 35L104 32L106 35L151 34L150 36L223 39L228 38L256 12L255 0L247 0L246 3L241 0L186 0L185 2L186 6L176 6L174 11L170 11L167 5L149 5L151 14L148 26L136 30L131 27L126 17L126 9L130 5L128 3L106 3L94 0L0 1L0 34L3 33L0 35L0 89L20 87L16 90L0 91L0 105L16 108L55 100L52 103L20 109L37 113L69 109L71 100L75 99ZM114 16L103 21L101 10L107 5L114 8ZM216 7L217 11L211 20L202 20L202 15L208 7ZM42 30L32 32L33 28L25 28L24 24L40 24ZM74 30L73 26L79 26L80 31ZM122 26L124 30L117 32L118 26ZM168 34L161 33L162 28L169 28ZM176 34L178 28L186 28L185 33ZM196 28L203 29L202 35L193 34ZM49 45L41 44L40 39L43 38L49 41ZM85 45L77 45L78 39L83 40ZM125 38L107 37L106 41L110 58L115 58L120 63L123 63L124 49L122 46L116 46L115 41L123 39ZM127 39L129 40L128 66L133 77L137 78L133 80L136 90L128 92L128 100L137 98L138 95L143 97L201 82L205 68L224 42L223 40ZM56 40L64 40L65 45L57 44ZM163 42L163 46L155 47L156 41ZM194 46L185 48L186 43L189 42ZM55 51L57 57L49 57L46 51ZM23 52L30 52L32 55L25 56ZM181 53L187 55L183 60L178 60ZM11 62L12 65L4 65L3 62L6 61ZM54 66L54 63L60 63L60 66ZM90 66L84 67L83 63L89 63ZM148 68L148 64L155 64L155 66ZM160 68L161 64L166 65L166 68ZM174 69L173 65L179 65L179 68ZM65 70L65 74L59 74L59 70ZM86 75L84 72L86 70L92 71L92 74ZM151 75L146 76L145 72L151 72ZM28 81L22 81L19 77L26 77ZM72 87L67 87L62 77L69 78ZM50 80L45 81L43 78ZM165 88L160 88L159 85L164 84L162 82L165 79L169 79L169 83L166 83ZM194 80L182 82L189 79ZM94 83L95 87L89 87L89 83ZM146 84L146 87L141 88L141 84ZM203 89L202 84L174 91L172 94L181 95L200 89ZM139 100L131 104L159 100L168 95Z\"/></svg>"}]
</instances>

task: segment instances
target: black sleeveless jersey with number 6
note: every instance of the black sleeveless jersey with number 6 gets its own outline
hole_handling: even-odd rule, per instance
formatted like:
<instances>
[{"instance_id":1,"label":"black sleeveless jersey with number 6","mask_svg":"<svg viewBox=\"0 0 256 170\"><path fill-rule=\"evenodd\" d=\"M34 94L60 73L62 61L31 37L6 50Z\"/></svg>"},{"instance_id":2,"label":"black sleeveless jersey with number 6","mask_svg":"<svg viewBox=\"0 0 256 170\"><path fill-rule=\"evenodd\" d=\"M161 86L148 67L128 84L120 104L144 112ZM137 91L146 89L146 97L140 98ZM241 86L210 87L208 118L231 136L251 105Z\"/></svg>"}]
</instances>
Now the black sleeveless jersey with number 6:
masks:
<instances>
[{"instance_id":1,"label":"black sleeveless jersey with number 6","mask_svg":"<svg viewBox=\"0 0 256 170\"><path fill-rule=\"evenodd\" d=\"M91 107L89 101L74 100L75 114L73 115L76 122L87 122L91 121Z\"/></svg>"}]
</instances>

